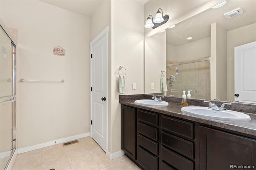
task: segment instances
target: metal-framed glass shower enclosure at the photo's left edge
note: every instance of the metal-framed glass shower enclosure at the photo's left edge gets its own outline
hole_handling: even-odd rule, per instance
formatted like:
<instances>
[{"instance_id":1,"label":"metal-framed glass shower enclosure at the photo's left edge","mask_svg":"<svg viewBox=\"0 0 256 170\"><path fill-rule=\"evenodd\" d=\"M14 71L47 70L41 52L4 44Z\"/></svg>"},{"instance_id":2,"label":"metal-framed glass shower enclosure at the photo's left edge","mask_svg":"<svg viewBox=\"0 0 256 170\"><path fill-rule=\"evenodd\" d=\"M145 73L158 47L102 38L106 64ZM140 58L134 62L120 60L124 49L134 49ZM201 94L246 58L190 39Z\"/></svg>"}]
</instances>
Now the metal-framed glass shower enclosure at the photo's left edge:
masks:
<instances>
[{"instance_id":1,"label":"metal-framed glass shower enclosure at the photo's left edge","mask_svg":"<svg viewBox=\"0 0 256 170\"><path fill-rule=\"evenodd\" d=\"M16 149L16 45L0 26L0 170L4 170Z\"/></svg>"}]
</instances>

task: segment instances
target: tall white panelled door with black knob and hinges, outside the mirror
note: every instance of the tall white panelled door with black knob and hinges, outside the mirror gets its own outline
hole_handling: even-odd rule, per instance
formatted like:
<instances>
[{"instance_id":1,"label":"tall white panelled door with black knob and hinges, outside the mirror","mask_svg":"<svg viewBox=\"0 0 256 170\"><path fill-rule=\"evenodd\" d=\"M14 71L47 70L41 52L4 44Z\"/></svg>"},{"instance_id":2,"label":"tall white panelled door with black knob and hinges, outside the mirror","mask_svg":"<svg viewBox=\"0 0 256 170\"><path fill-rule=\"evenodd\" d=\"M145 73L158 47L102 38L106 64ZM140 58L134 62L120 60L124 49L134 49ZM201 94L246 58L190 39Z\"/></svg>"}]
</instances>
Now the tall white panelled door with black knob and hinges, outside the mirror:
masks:
<instances>
[{"instance_id":1,"label":"tall white panelled door with black knob and hinges, outside the mirror","mask_svg":"<svg viewBox=\"0 0 256 170\"><path fill-rule=\"evenodd\" d=\"M107 152L108 27L91 43L91 137Z\"/></svg>"}]
</instances>

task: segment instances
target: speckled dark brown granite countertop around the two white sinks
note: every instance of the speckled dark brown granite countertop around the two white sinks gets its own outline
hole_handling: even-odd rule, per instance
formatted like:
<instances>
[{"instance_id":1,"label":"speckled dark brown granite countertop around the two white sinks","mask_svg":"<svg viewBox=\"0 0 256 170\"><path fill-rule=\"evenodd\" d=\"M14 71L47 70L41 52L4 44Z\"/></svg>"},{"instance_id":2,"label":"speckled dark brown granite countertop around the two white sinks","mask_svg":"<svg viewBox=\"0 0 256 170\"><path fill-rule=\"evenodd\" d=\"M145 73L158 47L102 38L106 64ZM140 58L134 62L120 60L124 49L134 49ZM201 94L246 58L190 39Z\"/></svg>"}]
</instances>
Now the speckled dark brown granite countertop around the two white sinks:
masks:
<instances>
[{"instance_id":1,"label":"speckled dark brown granite countertop around the two white sinks","mask_svg":"<svg viewBox=\"0 0 256 170\"><path fill-rule=\"evenodd\" d=\"M245 113L251 117L250 121L221 121L221 120L207 119L200 116L188 115L186 113L182 113L180 109L186 106L180 105L178 103L168 102L169 105L164 107L143 106L143 105L135 104L134 101L136 99L132 99L132 98L127 98L127 99L120 98L120 103L127 106L131 106L131 107L136 107L136 108L140 108L148 111L162 113L165 115L170 115L173 117L178 117L178 118L186 119L189 121L203 123L206 125L212 125L215 127L220 127L220 128L256 136L256 114ZM192 106L192 105L188 105L188 106Z\"/></svg>"}]
</instances>

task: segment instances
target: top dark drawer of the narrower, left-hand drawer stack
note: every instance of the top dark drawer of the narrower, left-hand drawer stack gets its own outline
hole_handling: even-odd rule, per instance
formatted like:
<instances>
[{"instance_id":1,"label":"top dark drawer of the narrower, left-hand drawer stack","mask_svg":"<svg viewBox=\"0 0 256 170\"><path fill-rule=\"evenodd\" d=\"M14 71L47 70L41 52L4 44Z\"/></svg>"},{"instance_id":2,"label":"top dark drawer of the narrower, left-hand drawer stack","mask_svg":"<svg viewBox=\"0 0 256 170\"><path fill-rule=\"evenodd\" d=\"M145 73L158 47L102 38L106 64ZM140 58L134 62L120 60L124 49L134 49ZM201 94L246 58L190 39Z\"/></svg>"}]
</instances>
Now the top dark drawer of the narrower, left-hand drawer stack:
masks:
<instances>
[{"instance_id":1,"label":"top dark drawer of the narrower, left-hand drawer stack","mask_svg":"<svg viewBox=\"0 0 256 170\"><path fill-rule=\"evenodd\" d=\"M146 122L146 123L154 125L154 126L158 126L158 114L157 113L138 110L138 120Z\"/></svg>"}]
</instances>

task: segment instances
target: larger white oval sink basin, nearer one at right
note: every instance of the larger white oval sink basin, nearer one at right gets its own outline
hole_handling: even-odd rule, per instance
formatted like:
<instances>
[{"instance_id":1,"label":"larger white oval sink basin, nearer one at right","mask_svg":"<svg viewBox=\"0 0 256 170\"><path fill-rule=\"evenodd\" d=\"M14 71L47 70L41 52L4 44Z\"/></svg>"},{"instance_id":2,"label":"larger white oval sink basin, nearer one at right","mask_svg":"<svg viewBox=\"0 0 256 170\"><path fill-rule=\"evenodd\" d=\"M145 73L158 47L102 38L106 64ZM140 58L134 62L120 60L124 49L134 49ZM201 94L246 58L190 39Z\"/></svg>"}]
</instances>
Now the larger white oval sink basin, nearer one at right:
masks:
<instances>
[{"instance_id":1,"label":"larger white oval sink basin, nearer one at right","mask_svg":"<svg viewBox=\"0 0 256 170\"><path fill-rule=\"evenodd\" d=\"M200 117L218 119L224 121L249 121L251 118L249 115L236 111L216 111L208 109L208 107L199 106L187 106L182 107L181 111L189 115L197 115Z\"/></svg>"}]
</instances>

